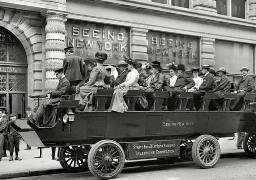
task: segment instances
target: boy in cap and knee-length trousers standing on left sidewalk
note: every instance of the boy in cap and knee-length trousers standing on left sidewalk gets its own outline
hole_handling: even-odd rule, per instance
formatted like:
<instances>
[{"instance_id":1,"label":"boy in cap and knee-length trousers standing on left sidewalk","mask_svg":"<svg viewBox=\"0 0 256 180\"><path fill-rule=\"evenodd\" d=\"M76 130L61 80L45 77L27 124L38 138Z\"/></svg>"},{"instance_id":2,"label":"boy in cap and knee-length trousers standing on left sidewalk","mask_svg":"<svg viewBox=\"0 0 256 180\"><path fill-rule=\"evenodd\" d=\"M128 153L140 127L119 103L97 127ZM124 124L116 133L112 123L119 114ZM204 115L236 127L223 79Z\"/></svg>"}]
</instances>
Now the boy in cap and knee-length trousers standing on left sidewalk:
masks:
<instances>
[{"instance_id":1,"label":"boy in cap and knee-length trousers standing on left sidewalk","mask_svg":"<svg viewBox=\"0 0 256 180\"><path fill-rule=\"evenodd\" d=\"M13 123L14 120L16 120L16 115L14 113L11 113L10 116L10 123ZM18 132L13 129L13 127L9 128L9 149L10 149L10 159L9 161L13 160L13 150L15 147L15 160L21 160L18 157L19 151L20 151L20 135L18 134Z\"/></svg>"}]
</instances>

